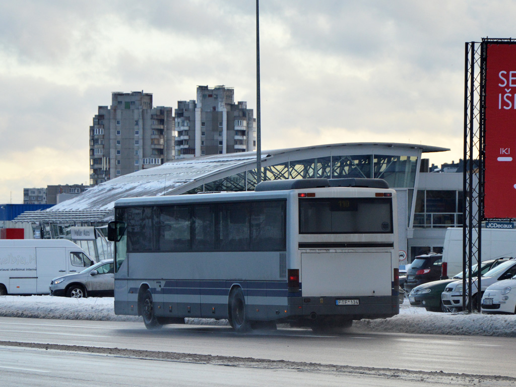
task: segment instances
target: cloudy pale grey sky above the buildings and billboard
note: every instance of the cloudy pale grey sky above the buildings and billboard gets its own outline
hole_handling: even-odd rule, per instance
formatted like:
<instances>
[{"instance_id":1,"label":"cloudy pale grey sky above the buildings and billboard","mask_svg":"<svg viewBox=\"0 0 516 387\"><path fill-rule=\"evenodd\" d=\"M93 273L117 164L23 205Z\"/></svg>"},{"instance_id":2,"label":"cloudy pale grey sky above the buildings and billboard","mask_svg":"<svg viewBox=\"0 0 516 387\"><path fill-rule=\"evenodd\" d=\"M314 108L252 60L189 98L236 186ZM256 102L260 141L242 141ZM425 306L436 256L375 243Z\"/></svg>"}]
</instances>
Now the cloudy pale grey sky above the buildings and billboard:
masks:
<instances>
[{"instance_id":1,"label":"cloudy pale grey sky above the buildings and billboard","mask_svg":"<svg viewBox=\"0 0 516 387\"><path fill-rule=\"evenodd\" d=\"M464 42L508 38L512 1L261 0L262 148L412 142L462 157ZM0 203L89 182L112 91L154 105L235 88L256 109L254 0L0 3Z\"/></svg>"}]
</instances>

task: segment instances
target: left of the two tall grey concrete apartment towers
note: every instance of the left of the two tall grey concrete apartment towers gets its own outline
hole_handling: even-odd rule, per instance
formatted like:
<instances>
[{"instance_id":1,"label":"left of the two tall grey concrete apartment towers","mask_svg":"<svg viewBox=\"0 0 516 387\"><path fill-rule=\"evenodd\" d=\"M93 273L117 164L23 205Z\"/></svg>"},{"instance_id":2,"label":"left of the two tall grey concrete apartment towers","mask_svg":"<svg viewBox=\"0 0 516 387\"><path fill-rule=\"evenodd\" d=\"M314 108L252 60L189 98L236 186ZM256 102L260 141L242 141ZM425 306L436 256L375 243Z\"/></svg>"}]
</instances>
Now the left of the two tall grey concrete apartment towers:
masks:
<instances>
[{"instance_id":1,"label":"left of the two tall grey concrete apartment towers","mask_svg":"<svg viewBox=\"0 0 516 387\"><path fill-rule=\"evenodd\" d=\"M152 105L143 91L111 93L90 126L90 185L173 160L172 107Z\"/></svg>"}]
</instances>

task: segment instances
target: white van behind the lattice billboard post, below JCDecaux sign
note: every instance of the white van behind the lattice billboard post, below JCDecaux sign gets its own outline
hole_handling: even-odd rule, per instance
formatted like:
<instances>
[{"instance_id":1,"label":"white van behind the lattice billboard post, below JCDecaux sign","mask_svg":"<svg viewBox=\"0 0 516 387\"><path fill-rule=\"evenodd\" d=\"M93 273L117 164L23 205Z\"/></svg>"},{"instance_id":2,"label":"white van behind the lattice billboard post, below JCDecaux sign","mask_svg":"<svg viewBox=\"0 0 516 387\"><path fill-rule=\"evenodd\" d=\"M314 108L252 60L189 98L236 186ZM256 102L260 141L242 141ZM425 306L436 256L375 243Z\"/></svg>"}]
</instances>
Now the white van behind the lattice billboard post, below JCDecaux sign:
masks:
<instances>
[{"instance_id":1,"label":"white van behind the lattice billboard post, below JCDecaux sign","mask_svg":"<svg viewBox=\"0 0 516 387\"><path fill-rule=\"evenodd\" d=\"M474 237L476 238L476 230ZM516 230L482 229L482 261L516 256ZM446 230L441 265L443 279L462 271L462 228ZM476 262L473 262L476 263Z\"/></svg>"}]
</instances>

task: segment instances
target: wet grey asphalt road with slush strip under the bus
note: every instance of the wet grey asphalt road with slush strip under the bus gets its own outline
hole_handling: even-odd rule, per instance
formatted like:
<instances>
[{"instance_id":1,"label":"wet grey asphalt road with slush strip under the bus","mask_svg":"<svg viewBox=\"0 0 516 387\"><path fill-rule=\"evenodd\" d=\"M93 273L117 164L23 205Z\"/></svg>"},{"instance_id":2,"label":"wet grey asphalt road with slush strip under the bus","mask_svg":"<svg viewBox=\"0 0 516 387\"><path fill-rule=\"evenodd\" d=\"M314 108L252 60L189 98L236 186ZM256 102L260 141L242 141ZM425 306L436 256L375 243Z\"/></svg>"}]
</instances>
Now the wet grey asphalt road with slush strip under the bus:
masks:
<instances>
[{"instance_id":1,"label":"wet grey asphalt road with slush strip under the bus","mask_svg":"<svg viewBox=\"0 0 516 387\"><path fill-rule=\"evenodd\" d=\"M304 385L299 383L305 380L311 385L332 385L332 380L339 380L342 385L346 378L353 379L352 385L391 385L391 381L398 386L516 385L514 338L354 330L342 336L318 336L303 329L238 335L228 327L187 325L148 331L139 322L8 317L0 318L0 332L0 376L15 378L20 374L19 380L42 379L31 385L45 385L41 384L49 376L45 370L54 376L64 373L59 378L69 378L70 383L70 378L83 369L85 375L79 379L89 381L89 385L99 372L106 372L106 383L118 383L124 375L143 372L141 364L146 364L146 374L156 364L162 372L150 372L141 380L136 373L131 376L134 384L125 385L145 385L144 379L166 381L168 372L182 375L173 385L264 385L267 378L271 378L267 384L275 385L279 384L273 382L275 378L283 377L294 378L298 385ZM13 358L18 359L14 364ZM38 359L50 358L48 362L41 360L41 369L37 367ZM135 362L140 363L135 366ZM99 371L95 367L100 367ZM178 367L184 373L179 373ZM253 384L257 381L260 383ZM98 385L116 385L106 383ZM74 385L81 384L74 381Z\"/></svg>"}]
</instances>

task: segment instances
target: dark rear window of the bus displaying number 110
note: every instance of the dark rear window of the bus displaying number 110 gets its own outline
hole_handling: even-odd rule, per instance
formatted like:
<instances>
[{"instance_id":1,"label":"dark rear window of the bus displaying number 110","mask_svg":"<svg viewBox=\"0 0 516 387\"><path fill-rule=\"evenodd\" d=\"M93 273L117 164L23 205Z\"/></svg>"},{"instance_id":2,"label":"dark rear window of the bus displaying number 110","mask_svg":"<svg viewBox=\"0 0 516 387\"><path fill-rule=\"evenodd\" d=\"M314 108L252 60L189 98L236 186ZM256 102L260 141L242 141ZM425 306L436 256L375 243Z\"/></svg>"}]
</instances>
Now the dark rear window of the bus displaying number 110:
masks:
<instances>
[{"instance_id":1,"label":"dark rear window of the bus displaying number 110","mask_svg":"<svg viewBox=\"0 0 516 387\"><path fill-rule=\"evenodd\" d=\"M392 234L391 198L299 199L299 234Z\"/></svg>"}]
</instances>

